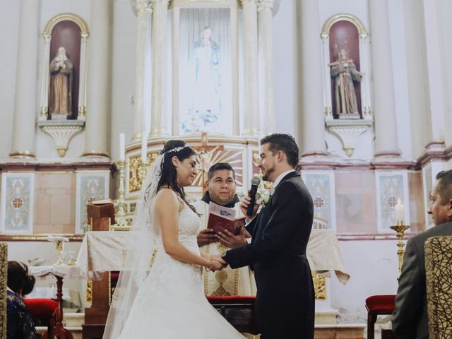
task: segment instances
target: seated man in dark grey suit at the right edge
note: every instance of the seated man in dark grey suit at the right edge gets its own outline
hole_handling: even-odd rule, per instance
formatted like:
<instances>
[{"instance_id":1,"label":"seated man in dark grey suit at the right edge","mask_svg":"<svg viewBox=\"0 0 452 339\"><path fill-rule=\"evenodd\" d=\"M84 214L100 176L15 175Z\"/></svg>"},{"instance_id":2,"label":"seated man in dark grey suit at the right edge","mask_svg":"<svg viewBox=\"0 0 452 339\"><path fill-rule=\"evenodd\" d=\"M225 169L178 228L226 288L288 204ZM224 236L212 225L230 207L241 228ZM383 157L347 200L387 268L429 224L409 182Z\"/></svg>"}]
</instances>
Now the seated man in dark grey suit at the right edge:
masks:
<instances>
[{"instance_id":1,"label":"seated man in dark grey suit at the right edge","mask_svg":"<svg viewBox=\"0 0 452 339\"><path fill-rule=\"evenodd\" d=\"M398 339L428 339L427 290L424 242L430 237L452 235L452 169L436 175L428 213L435 226L408 240L398 282L393 331Z\"/></svg>"}]
</instances>

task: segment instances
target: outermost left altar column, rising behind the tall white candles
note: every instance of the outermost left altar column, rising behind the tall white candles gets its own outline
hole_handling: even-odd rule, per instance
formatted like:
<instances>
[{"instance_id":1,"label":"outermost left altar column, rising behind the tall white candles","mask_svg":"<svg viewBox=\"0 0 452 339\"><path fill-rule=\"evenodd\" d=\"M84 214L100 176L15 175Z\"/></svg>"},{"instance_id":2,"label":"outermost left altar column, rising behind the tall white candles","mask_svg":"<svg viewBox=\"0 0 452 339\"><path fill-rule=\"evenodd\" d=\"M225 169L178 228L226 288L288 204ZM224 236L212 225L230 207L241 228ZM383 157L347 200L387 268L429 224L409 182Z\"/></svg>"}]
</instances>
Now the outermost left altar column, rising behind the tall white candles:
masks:
<instances>
[{"instance_id":1,"label":"outermost left altar column, rising behind the tall white candles","mask_svg":"<svg viewBox=\"0 0 452 339\"><path fill-rule=\"evenodd\" d=\"M150 67L150 23L152 9L149 0L138 0L135 3L137 15L136 33L136 75L135 75L135 117L133 124L133 140L141 139L141 132L148 131L145 126L145 98L150 95L148 69ZM144 136L147 138L147 136Z\"/></svg>"}]
</instances>

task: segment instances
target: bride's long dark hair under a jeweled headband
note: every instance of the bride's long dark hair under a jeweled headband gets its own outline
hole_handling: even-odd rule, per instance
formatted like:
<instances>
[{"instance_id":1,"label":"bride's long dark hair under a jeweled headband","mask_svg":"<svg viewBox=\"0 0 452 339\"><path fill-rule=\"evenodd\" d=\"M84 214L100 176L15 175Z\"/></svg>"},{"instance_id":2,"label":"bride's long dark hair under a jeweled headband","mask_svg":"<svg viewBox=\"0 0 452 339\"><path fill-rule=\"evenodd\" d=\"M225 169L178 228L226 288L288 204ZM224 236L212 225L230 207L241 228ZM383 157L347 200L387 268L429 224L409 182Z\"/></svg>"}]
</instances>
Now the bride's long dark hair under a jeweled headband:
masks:
<instances>
[{"instance_id":1,"label":"bride's long dark hair under a jeweled headband","mask_svg":"<svg viewBox=\"0 0 452 339\"><path fill-rule=\"evenodd\" d=\"M182 200L196 213L194 206L192 206L188 201L186 201L184 187L180 186L177 182L177 170L172 164L172 157L177 156L179 161L184 161L186 158L191 157L191 155L196 155L193 148L186 146L186 143L182 140L170 140L165 143L165 147L160 151L163 155L162 161L162 172L160 175L160 180L157 184L157 191L159 191L162 186L169 186ZM174 148L181 148L180 150L174 150ZM172 152L169 152L172 150Z\"/></svg>"}]
</instances>

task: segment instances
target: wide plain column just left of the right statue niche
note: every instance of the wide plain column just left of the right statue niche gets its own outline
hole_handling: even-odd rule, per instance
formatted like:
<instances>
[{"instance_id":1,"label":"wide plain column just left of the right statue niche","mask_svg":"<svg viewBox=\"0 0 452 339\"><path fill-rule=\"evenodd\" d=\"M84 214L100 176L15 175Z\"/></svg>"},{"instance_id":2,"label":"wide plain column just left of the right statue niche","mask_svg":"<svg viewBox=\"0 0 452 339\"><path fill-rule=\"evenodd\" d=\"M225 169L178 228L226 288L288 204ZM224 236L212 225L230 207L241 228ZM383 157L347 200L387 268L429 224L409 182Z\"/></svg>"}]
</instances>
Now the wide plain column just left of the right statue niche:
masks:
<instances>
[{"instance_id":1,"label":"wide plain column just left of the right statue niche","mask_svg":"<svg viewBox=\"0 0 452 339\"><path fill-rule=\"evenodd\" d=\"M302 157L325 156L319 3L295 1L297 139Z\"/></svg>"}]
</instances>

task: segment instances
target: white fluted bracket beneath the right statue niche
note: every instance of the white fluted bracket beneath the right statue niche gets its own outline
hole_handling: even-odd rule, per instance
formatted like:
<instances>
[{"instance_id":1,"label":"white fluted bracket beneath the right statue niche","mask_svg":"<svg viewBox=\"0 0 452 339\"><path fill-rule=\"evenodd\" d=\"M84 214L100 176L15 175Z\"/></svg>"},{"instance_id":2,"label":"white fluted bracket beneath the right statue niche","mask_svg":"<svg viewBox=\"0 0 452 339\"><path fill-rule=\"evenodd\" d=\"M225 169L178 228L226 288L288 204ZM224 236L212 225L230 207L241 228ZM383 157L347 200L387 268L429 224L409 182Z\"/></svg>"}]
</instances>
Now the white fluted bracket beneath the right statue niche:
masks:
<instances>
[{"instance_id":1,"label":"white fluted bracket beneath the right statue niche","mask_svg":"<svg viewBox=\"0 0 452 339\"><path fill-rule=\"evenodd\" d=\"M325 122L327 128L335 133L340 138L340 141L342 141L343 148L348 157L353 155L359 136L372 126L372 121L365 119L328 119Z\"/></svg>"}]
</instances>

